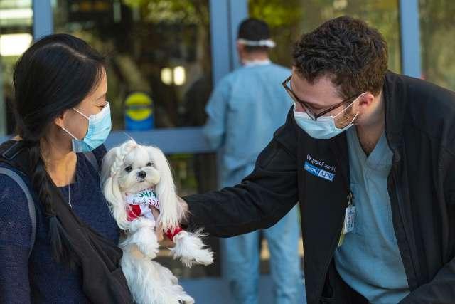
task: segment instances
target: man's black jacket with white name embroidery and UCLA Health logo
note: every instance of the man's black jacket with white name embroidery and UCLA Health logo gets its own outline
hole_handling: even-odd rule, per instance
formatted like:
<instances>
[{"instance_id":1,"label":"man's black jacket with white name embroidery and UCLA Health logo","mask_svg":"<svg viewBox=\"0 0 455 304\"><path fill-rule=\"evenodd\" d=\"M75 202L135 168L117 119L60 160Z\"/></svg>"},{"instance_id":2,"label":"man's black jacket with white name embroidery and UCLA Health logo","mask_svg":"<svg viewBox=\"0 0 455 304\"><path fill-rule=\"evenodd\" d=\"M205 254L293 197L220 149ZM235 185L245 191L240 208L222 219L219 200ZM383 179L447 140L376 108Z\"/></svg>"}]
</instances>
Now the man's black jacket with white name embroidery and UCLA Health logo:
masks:
<instances>
[{"instance_id":1,"label":"man's black jacket with white name embroidery and UCLA Health logo","mask_svg":"<svg viewBox=\"0 0 455 304\"><path fill-rule=\"evenodd\" d=\"M402 303L455 303L455 93L390 72L382 92L393 152L387 188L411 291ZM290 111L242 184L185 198L189 224L245 234L300 201L308 303L358 303L333 263L350 192L347 149L344 133L314 140Z\"/></svg>"}]
</instances>

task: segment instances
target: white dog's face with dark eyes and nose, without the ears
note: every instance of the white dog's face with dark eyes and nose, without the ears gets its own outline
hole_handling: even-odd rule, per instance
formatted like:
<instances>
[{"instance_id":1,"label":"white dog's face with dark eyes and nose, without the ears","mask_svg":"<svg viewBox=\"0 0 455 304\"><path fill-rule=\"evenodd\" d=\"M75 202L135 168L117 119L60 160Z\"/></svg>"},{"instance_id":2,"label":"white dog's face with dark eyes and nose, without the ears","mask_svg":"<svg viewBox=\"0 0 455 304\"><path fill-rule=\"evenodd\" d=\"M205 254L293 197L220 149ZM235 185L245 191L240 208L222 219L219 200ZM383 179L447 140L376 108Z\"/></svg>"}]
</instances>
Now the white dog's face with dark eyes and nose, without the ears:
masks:
<instances>
[{"instance_id":1,"label":"white dog's face with dark eyes and nose, without the ears","mask_svg":"<svg viewBox=\"0 0 455 304\"><path fill-rule=\"evenodd\" d=\"M138 192L156 186L160 181L156 162L154 150L150 147L141 145L133 147L125 155L123 165L117 173L120 191Z\"/></svg>"}]
</instances>

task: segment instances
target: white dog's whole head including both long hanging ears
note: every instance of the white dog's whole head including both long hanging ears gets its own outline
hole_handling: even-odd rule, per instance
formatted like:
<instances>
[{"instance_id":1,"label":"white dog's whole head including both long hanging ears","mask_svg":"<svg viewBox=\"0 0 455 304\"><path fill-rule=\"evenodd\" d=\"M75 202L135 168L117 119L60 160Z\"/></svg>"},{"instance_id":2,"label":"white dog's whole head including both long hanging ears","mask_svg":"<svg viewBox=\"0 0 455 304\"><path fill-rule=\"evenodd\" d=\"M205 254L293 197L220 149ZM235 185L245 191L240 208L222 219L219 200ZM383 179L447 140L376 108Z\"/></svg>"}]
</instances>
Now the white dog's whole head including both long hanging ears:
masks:
<instances>
[{"instance_id":1,"label":"white dog's whole head including both long hanging ears","mask_svg":"<svg viewBox=\"0 0 455 304\"><path fill-rule=\"evenodd\" d=\"M102 164L102 189L121 229L128 229L125 194L155 187L164 231L178 227L183 209L178 203L171 167L157 147L124 142L107 152Z\"/></svg>"}]
</instances>

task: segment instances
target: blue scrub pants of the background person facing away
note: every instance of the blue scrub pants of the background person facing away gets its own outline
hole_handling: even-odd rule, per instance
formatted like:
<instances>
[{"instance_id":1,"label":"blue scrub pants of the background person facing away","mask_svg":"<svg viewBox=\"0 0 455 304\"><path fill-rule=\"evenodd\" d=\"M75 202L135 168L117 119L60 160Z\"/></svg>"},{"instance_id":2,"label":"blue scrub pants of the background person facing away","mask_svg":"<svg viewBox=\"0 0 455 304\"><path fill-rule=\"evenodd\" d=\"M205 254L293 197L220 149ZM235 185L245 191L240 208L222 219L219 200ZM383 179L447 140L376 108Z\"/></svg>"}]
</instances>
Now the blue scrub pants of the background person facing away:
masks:
<instances>
[{"instance_id":1,"label":"blue scrub pants of the background person facing away","mask_svg":"<svg viewBox=\"0 0 455 304\"><path fill-rule=\"evenodd\" d=\"M302 281L299 236L299 207L269 229L262 229L270 252L270 271L276 304L301 303L299 291ZM223 276L236 304L257 304L259 284L259 233L253 231L228 239L221 239Z\"/></svg>"}]
</instances>

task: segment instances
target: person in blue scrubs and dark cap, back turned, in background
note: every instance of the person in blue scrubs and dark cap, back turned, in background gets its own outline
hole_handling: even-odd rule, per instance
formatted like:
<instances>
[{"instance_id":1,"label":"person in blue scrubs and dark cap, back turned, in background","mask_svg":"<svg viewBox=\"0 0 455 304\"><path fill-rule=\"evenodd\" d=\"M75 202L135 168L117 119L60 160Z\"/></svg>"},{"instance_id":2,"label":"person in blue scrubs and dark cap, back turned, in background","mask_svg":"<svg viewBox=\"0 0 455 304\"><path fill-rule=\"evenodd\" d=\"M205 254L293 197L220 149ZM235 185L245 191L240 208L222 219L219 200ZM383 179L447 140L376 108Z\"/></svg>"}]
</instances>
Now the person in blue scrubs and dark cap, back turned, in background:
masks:
<instances>
[{"instance_id":1,"label":"person in blue scrubs and dark cap, back turned, in background","mask_svg":"<svg viewBox=\"0 0 455 304\"><path fill-rule=\"evenodd\" d=\"M280 83L291 71L269 60L274 47L267 23L246 19L240 24L237 51L242 67L226 75L213 90L205 110L205 137L222 153L221 187L238 184L252 172L260 151L284 124L292 100ZM298 241L298 209L262 229L269 246L274 303L299 303L303 289ZM222 239L223 275L235 303L258 303L259 234ZM300 298L301 300L301 298Z\"/></svg>"}]
</instances>

